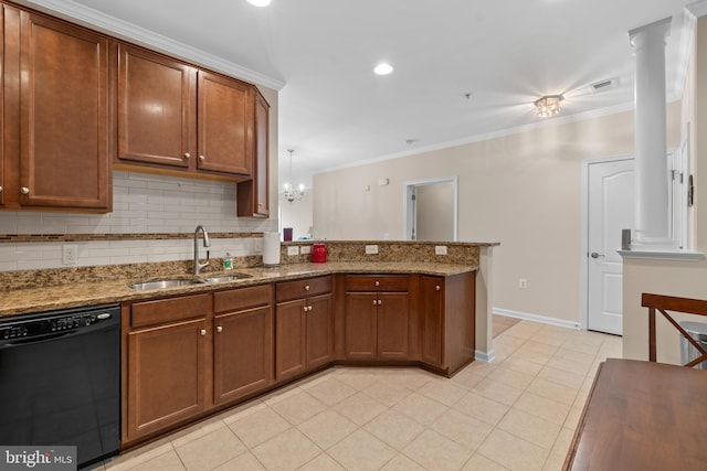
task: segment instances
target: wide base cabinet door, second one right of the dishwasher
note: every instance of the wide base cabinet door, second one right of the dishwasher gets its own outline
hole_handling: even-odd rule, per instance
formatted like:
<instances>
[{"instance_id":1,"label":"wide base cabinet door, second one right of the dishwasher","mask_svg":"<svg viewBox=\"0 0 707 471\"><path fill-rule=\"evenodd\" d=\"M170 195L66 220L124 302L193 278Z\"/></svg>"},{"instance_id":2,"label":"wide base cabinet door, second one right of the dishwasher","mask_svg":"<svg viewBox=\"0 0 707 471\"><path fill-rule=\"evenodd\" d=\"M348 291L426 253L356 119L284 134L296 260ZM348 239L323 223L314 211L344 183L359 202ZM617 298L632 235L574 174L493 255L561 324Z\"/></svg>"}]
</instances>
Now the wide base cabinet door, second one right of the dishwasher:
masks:
<instances>
[{"instance_id":1,"label":"wide base cabinet door, second one right of the dishwasher","mask_svg":"<svg viewBox=\"0 0 707 471\"><path fill-rule=\"evenodd\" d=\"M268 386L273 379L272 309L217 315L214 325L214 403Z\"/></svg>"}]
</instances>

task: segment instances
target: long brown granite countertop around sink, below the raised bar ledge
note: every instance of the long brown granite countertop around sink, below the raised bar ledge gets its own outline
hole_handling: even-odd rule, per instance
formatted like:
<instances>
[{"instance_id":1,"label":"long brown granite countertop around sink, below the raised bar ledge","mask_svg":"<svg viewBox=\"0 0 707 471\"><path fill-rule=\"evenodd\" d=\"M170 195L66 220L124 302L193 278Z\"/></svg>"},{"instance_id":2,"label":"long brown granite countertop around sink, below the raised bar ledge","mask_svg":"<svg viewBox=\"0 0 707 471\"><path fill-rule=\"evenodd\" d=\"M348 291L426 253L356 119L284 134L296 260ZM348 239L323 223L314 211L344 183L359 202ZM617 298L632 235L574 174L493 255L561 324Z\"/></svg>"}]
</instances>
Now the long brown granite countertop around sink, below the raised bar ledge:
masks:
<instances>
[{"instance_id":1,"label":"long brown granite countertop around sink, below the raised bar ledge","mask_svg":"<svg viewBox=\"0 0 707 471\"><path fill-rule=\"evenodd\" d=\"M334 261L326 264L292 264L266 268L236 268L233 271L207 271L200 278L240 272L251 278L225 281L219 283L198 283L178 288L135 290L129 285L150 281L155 278L113 279L99 281L73 282L42 288L25 288L8 290L0 297L0 317L15 315L30 312L51 311L55 309L75 308L81 306L110 304L122 301L159 298L170 295L198 293L223 288L240 288L263 282L284 281L318 275L340 272L357 274L422 274L435 276L452 276L474 271L475 265L454 265L437 263L362 263ZM193 275L175 275L160 279L194 278Z\"/></svg>"}]
</instances>

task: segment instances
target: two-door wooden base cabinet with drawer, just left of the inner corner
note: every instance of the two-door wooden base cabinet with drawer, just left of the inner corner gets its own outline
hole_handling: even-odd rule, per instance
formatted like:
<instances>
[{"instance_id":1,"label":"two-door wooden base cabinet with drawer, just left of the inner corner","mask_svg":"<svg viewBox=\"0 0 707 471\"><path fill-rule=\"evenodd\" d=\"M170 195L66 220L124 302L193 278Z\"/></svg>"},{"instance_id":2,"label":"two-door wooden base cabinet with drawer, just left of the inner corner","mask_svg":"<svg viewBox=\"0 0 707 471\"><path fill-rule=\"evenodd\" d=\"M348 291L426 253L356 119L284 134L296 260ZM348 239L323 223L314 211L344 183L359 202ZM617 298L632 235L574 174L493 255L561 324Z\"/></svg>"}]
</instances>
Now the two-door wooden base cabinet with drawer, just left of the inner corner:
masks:
<instances>
[{"instance_id":1,"label":"two-door wooden base cabinet with drawer, just left of the inner corner","mask_svg":"<svg viewBox=\"0 0 707 471\"><path fill-rule=\"evenodd\" d=\"M276 285L275 379L329 363L334 351L331 276Z\"/></svg>"}]
</instances>

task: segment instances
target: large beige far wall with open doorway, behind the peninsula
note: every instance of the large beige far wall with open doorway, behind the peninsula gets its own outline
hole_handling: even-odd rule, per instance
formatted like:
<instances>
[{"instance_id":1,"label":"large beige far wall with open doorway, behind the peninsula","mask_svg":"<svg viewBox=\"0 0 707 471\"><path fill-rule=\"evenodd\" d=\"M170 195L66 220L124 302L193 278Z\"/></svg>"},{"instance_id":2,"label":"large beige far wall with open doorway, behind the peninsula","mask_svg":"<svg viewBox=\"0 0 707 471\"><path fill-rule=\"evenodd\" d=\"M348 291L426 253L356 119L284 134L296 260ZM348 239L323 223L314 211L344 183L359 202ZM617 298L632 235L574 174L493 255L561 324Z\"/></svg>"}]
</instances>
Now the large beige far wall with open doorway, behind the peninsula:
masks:
<instances>
[{"instance_id":1,"label":"large beige far wall with open doorway, behind the peninsula","mask_svg":"<svg viewBox=\"0 0 707 471\"><path fill-rule=\"evenodd\" d=\"M668 107L668 144L679 104ZM499 242L495 308L580 321L583 159L630 154L633 113L532 130L315 175L317 236L403 238L405 182L458 176L458 239ZM378 186L379 178L390 179ZM370 191L365 188L370 185ZM527 289L518 279L528 280Z\"/></svg>"}]
</instances>

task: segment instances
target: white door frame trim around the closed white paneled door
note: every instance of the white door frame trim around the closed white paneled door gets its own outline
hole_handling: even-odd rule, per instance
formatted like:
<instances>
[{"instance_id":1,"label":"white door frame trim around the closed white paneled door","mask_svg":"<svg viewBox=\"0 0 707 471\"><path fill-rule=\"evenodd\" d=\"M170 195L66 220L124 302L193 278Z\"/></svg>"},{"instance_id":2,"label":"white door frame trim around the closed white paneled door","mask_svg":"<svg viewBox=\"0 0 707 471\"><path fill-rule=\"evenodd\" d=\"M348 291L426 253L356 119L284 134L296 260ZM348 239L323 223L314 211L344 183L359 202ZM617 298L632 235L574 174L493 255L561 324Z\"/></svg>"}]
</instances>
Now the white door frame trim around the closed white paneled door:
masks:
<instances>
[{"instance_id":1,"label":"white door frame trim around the closed white paneled door","mask_svg":"<svg viewBox=\"0 0 707 471\"><path fill-rule=\"evenodd\" d=\"M610 163L621 160L633 160L630 153L582 160L582 197L581 197L581 244L580 244L580 290L579 323L581 330L589 325L589 167L597 163Z\"/></svg>"}]
</instances>

